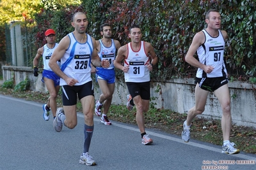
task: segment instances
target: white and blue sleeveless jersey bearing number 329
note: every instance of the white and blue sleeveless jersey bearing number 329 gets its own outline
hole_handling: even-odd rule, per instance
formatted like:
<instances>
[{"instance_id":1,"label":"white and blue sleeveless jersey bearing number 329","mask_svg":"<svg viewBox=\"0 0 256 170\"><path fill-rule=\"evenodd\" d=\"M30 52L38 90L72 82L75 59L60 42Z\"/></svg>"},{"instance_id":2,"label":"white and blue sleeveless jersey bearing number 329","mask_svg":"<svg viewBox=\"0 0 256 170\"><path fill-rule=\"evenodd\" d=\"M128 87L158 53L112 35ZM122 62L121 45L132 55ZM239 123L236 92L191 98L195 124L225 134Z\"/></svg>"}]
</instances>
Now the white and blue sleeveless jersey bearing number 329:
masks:
<instances>
[{"instance_id":1,"label":"white and blue sleeveless jersey bearing number 329","mask_svg":"<svg viewBox=\"0 0 256 170\"><path fill-rule=\"evenodd\" d=\"M83 85L91 78L91 58L93 52L93 43L91 36L87 35L86 43L79 43L76 41L74 34L70 32L70 45L65 54L61 58L61 71L68 77L75 78L78 83L76 85ZM60 85L67 85L66 81L60 79Z\"/></svg>"}]
</instances>

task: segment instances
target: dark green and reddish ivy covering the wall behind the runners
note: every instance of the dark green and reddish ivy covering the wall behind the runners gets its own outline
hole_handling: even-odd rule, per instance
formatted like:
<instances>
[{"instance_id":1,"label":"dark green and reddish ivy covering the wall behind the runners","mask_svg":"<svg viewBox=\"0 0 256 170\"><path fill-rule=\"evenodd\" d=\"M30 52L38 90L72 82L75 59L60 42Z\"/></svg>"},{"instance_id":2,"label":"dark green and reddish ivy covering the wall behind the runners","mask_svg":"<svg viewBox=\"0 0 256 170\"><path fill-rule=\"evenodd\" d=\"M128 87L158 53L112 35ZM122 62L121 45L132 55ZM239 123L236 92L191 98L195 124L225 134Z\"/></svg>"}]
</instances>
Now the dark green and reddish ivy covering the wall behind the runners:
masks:
<instances>
[{"instance_id":1,"label":"dark green and reddish ivy covering the wall behind the runners","mask_svg":"<svg viewBox=\"0 0 256 170\"><path fill-rule=\"evenodd\" d=\"M159 57L151 76L154 80L165 81L195 76L196 68L186 63L184 57L193 36L206 27L207 10L217 8L221 13L223 29L228 33L225 50L228 73L240 80L254 80L255 6L254 0L83 0L81 6L68 6L49 13L44 11L49 17L40 16L36 22L42 24L41 28L47 25L56 29L61 39L73 30L70 18L74 12L84 11L90 21L89 34L100 39L99 27L108 22L113 27L113 38L121 45L130 41L127 36L129 27L138 24L143 40L154 46ZM122 75L117 71L117 78L122 78Z\"/></svg>"}]
</instances>

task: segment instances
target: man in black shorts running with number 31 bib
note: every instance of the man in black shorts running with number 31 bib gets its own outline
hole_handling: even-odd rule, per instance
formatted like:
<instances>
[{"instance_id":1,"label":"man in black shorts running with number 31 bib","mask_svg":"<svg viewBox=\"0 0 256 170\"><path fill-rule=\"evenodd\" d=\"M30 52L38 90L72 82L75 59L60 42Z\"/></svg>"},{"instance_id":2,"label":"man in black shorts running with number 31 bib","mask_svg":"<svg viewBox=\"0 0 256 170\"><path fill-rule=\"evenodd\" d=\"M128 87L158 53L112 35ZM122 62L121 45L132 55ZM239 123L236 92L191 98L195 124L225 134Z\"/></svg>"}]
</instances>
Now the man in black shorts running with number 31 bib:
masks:
<instances>
[{"instance_id":1,"label":"man in black shorts running with number 31 bib","mask_svg":"<svg viewBox=\"0 0 256 170\"><path fill-rule=\"evenodd\" d=\"M132 25L129 31L131 43L121 46L118 50L114 65L124 71L125 82L129 93L127 95L127 108L132 110L136 106L136 122L141 133L141 143L149 145L153 142L145 132L145 119L143 113L149 108L150 75L153 66L157 64L157 56L153 46L141 41L142 33L138 25ZM124 60L124 66L122 61Z\"/></svg>"}]
</instances>

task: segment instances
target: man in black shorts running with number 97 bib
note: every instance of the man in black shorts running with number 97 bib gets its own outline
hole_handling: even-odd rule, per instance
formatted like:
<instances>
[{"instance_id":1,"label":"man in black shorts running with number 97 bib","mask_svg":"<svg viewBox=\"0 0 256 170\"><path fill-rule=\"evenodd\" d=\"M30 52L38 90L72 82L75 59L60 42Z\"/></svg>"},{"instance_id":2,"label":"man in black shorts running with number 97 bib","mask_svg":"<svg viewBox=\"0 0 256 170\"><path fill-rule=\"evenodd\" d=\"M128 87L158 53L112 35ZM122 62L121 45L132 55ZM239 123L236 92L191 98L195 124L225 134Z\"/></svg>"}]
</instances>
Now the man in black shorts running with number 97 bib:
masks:
<instances>
[{"instance_id":1,"label":"man in black shorts running with number 97 bib","mask_svg":"<svg viewBox=\"0 0 256 170\"><path fill-rule=\"evenodd\" d=\"M220 101L222 109L221 127L223 132L222 153L239 153L236 144L230 142L232 125L230 111L230 93L228 89L227 70L223 53L227 32L221 31L221 16L218 10L211 9L205 15L207 28L197 32L189 46L185 60L194 67L196 73L195 106L188 111L188 117L183 124L182 139L189 142L190 126L193 118L205 110L209 92L213 92ZM199 61L194 55L197 52ZM188 154L188 153L187 153Z\"/></svg>"}]
</instances>

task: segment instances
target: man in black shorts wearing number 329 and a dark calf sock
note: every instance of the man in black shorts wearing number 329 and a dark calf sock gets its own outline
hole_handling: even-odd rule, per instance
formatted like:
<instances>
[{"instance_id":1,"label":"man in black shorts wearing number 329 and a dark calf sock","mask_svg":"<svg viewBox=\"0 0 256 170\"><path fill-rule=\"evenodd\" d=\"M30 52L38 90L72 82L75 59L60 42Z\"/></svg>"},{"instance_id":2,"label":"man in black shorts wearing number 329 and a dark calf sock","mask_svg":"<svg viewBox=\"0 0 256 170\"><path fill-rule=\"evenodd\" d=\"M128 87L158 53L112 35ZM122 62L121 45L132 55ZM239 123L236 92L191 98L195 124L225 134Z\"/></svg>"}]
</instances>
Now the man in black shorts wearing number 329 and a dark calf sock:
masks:
<instances>
[{"instance_id":1,"label":"man in black shorts wearing number 329 and a dark calf sock","mask_svg":"<svg viewBox=\"0 0 256 170\"><path fill-rule=\"evenodd\" d=\"M49 61L49 66L61 77L61 85L63 85L63 108L57 110L54 129L60 132L63 125L69 129L76 127L78 97L84 114L83 153L79 163L94 166L95 160L88 153L94 129L93 109L95 105L91 72L95 73L94 66L109 67L109 62L108 60L100 61L95 39L86 34L88 26L86 15L82 12L75 13L71 24L74 31L61 39ZM58 60L61 60L61 69L56 64ZM56 142L56 145L58 143Z\"/></svg>"}]
</instances>

